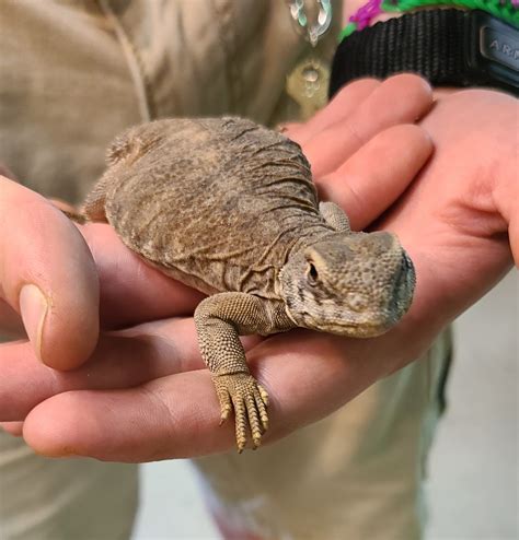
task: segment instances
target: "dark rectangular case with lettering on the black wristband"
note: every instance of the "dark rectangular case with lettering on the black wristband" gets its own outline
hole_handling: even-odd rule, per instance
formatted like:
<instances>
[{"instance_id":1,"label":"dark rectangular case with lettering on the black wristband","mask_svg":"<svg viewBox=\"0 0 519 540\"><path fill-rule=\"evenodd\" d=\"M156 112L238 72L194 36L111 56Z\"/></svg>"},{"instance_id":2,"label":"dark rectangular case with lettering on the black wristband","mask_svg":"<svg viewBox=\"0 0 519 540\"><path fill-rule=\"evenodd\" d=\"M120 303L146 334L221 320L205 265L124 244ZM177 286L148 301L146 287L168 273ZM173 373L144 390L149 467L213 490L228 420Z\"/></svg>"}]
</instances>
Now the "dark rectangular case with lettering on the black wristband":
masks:
<instances>
[{"instance_id":1,"label":"dark rectangular case with lettering on the black wristband","mask_svg":"<svg viewBox=\"0 0 519 540\"><path fill-rule=\"evenodd\" d=\"M481 82L519 94L519 30L484 11L471 13L468 67Z\"/></svg>"}]
</instances>

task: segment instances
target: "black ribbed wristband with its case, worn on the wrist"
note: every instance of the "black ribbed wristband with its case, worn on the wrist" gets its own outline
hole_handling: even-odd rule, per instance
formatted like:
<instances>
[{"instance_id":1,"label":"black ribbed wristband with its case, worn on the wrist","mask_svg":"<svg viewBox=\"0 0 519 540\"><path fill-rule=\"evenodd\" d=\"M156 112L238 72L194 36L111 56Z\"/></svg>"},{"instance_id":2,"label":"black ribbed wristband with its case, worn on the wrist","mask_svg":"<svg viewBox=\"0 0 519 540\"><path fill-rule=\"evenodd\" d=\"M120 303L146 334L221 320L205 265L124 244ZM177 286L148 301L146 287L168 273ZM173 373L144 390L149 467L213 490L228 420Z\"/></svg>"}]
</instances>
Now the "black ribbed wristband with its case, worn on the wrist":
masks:
<instances>
[{"instance_id":1,"label":"black ribbed wristband with its case, worn on the wrist","mask_svg":"<svg viewBox=\"0 0 519 540\"><path fill-rule=\"evenodd\" d=\"M361 77L415 72L434 85L519 93L519 31L483 11L424 10L354 32L338 46L330 96Z\"/></svg>"}]
</instances>

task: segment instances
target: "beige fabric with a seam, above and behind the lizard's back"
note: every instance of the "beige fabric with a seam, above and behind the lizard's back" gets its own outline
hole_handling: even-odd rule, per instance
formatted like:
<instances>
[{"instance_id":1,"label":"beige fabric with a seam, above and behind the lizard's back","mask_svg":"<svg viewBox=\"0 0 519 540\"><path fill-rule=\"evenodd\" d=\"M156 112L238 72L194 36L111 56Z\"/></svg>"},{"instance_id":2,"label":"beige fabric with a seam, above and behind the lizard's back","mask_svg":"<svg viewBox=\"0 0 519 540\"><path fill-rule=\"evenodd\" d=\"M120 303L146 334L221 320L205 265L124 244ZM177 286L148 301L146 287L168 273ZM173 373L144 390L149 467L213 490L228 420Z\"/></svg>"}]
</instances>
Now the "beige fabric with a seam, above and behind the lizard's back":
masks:
<instances>
[{"instance_id":1,"label":"beige fabric with a seam, above and behind the lizard's back","mask_svg":"<svg viewBox=\"0 0 519 540\"><path fill-rule=\"evenodd\" d=\"M0 50L0 162L77 201L143 109L287 117L285 75L309 46L279 0L2 0Z\"/></svg>"}]
</instances>

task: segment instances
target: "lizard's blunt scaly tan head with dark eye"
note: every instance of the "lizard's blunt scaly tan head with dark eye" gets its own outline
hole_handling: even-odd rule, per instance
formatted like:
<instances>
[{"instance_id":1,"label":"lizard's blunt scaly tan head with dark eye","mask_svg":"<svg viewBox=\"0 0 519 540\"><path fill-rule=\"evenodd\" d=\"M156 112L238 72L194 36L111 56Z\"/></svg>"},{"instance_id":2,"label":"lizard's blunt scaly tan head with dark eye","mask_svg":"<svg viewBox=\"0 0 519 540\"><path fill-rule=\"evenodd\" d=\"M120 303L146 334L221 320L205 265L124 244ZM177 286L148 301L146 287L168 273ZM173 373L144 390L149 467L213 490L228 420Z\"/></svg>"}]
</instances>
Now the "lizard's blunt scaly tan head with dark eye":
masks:
<instances>
[{"instance_id":1,"label":"lizard's blunt scaly tan head with dark eye","mask_svg":"<svg viewBox=\"0 0 519 540\"><path fill-rule=\"evenodd\" d=\"M415 271L395 235L348 233L290 254L279 281L298 326L369 338L407 312Z\"/></svg>"}]
</instances>

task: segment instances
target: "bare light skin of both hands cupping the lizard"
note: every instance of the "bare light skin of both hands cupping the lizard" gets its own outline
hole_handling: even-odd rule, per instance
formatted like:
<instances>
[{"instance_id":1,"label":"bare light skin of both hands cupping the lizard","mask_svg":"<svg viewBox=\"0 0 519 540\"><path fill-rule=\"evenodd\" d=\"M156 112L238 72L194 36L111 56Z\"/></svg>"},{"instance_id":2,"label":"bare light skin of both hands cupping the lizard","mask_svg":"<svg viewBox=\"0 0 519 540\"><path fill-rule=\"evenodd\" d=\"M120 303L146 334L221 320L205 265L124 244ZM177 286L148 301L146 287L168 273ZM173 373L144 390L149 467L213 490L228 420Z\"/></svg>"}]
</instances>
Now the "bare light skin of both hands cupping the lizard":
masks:
<instances>
[{"instance_id":1,"label":"bare light skin of both hands cupping the lizard","mask_svg":"<svg viewBox=\"0 0 519 540\"><path fill-rule=\"evenodd\" d=\"M410 314L380 338L297 330L245 340L272 400L265 441L323 418L417 357L507 271L510 246L519 259L516 101L492 91L439 96L422 121L435 153L406 189L431 152L428 136L408 122L430 106L416 78L368 80L288 129L322 196L346 210L354 228L395 232L418 281ZM218 426L188 316L200 295L146 267L106 225L82 227L81 237L35 193L4 179L0 193L0 230L8 223L10 232L0 235L0 327L22 329L21 283L51 295L42 339L28 328L31 341L0 345L0 420L14 422L4 426L20 433L23 425L25 441L50 456L146 461L231 449L232 422ZM24 223L20 208L31 209ZM106 331L115 328L125 330Z\"/></svg>"}]
</instances>

